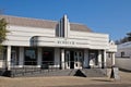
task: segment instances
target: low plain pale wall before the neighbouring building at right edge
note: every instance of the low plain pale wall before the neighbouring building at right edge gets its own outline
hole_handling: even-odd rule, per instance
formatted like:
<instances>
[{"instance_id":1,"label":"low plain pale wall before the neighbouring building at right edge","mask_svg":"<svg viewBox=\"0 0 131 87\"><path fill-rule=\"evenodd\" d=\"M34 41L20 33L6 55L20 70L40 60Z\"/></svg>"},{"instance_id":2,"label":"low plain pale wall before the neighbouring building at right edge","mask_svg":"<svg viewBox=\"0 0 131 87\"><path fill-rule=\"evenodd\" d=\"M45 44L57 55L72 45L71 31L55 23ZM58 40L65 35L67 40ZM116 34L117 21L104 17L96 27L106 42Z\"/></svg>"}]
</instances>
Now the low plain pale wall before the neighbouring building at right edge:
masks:
<instances>
[{"instance_id":1,"label":"low plain pale wall before the neighbouring building at right edge","mask_svg":"<svg viewBox=\"0 0 131 87\"><path fill-rule=\"evenodd\" d=\"M116 58L116 66L131 71L131 59Z\"/></svg>"}]
</instances>

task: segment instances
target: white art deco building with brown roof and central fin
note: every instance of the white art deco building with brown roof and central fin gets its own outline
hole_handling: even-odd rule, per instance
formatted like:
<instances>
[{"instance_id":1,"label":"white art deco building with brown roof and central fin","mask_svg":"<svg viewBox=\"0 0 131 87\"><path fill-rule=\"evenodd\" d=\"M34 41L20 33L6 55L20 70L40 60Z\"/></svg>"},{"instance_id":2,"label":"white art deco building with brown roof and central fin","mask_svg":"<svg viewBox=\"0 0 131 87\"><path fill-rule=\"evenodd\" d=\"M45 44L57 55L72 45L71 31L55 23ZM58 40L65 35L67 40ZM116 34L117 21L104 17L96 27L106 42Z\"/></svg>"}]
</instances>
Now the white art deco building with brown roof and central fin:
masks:
<instances>
[{"instance_id":1,"label":"white art deco building with brown roof and central fin","mask_svg":"<svg viewBox=\"0 0 131 87\"><path fill-rule=\"evenodd\" d=\"M0 15L8 22L7 40L0 67L39 67L59 70L104 69L108 55L115 64L117 47L108 34L94 33L87 26L60 21Z\"/></svg>"}]
</instances>

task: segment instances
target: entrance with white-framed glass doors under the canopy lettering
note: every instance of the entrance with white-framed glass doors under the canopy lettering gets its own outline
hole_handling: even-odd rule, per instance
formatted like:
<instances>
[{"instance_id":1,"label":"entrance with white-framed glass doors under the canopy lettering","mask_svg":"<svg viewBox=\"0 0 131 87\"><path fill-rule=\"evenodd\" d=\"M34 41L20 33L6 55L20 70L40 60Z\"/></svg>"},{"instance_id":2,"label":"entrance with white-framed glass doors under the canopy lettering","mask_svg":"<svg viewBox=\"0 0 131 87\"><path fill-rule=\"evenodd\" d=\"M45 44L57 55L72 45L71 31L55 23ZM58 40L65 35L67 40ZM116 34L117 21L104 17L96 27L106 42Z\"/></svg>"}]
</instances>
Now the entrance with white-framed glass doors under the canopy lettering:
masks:
<instances>
[{"instance_id":1,"label":"entrance with white-framed glass doors under the canopy lettering","mask_svg":"<svg viewBox=\"0 0 131 87\"><path fill-rule=\"evenodd\" d=\"M83 52L82 51L66 51L66 69L82 69Z\"/></svg>"}]
</instances>

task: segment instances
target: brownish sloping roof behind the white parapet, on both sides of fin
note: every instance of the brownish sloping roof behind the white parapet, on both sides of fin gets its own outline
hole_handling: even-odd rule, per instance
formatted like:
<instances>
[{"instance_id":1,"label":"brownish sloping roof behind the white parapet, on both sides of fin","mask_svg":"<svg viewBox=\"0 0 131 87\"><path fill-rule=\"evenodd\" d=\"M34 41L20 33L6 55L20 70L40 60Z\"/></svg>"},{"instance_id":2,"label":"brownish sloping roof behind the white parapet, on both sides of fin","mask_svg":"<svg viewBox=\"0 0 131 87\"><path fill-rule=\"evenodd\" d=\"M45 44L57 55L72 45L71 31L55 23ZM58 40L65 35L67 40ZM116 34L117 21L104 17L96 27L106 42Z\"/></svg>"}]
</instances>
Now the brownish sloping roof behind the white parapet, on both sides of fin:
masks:
<instances>
[{"instance_id":1,"label":"brownish sloping roof behind the white parapet, on both sides of fin","mask_svg":"<svg viewBox=\"0 0 131 87\"><path fill-rule=\"evenodd\" d=\"M57 21L17 17L10 15L0 15L0 18L5 18L5 21L10 25L32 26L32 27L41 27L41 28L56 28L58 24ZM78 24L78 23L70 23L70 28L71 30L92 32L86 25Z\"/></svg>"}]
</instances>

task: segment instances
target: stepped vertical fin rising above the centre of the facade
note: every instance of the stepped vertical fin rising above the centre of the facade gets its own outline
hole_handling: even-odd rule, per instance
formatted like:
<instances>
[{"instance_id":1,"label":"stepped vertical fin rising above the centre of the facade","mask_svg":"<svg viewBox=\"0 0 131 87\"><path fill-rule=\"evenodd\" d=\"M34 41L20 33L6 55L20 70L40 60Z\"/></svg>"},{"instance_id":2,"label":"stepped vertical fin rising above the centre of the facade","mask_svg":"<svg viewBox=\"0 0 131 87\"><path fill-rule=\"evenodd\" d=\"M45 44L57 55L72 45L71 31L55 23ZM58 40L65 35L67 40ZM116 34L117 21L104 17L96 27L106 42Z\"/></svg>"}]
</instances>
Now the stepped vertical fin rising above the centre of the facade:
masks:
<instances>
[{"instance_id":1,"label":"stepped vertical fin rising above the centre of the facade","mask_svg":"<svg viewBox=\"0 0 131 87\"><path fill-rule=\"evenodd\" d=\"M58 29L56 33L58 37L68 38L69 33L70 33L70 23L69 23L67 15L63 15L63 17L60 20L58 24Z\"/></svg>"}]
</instances>

